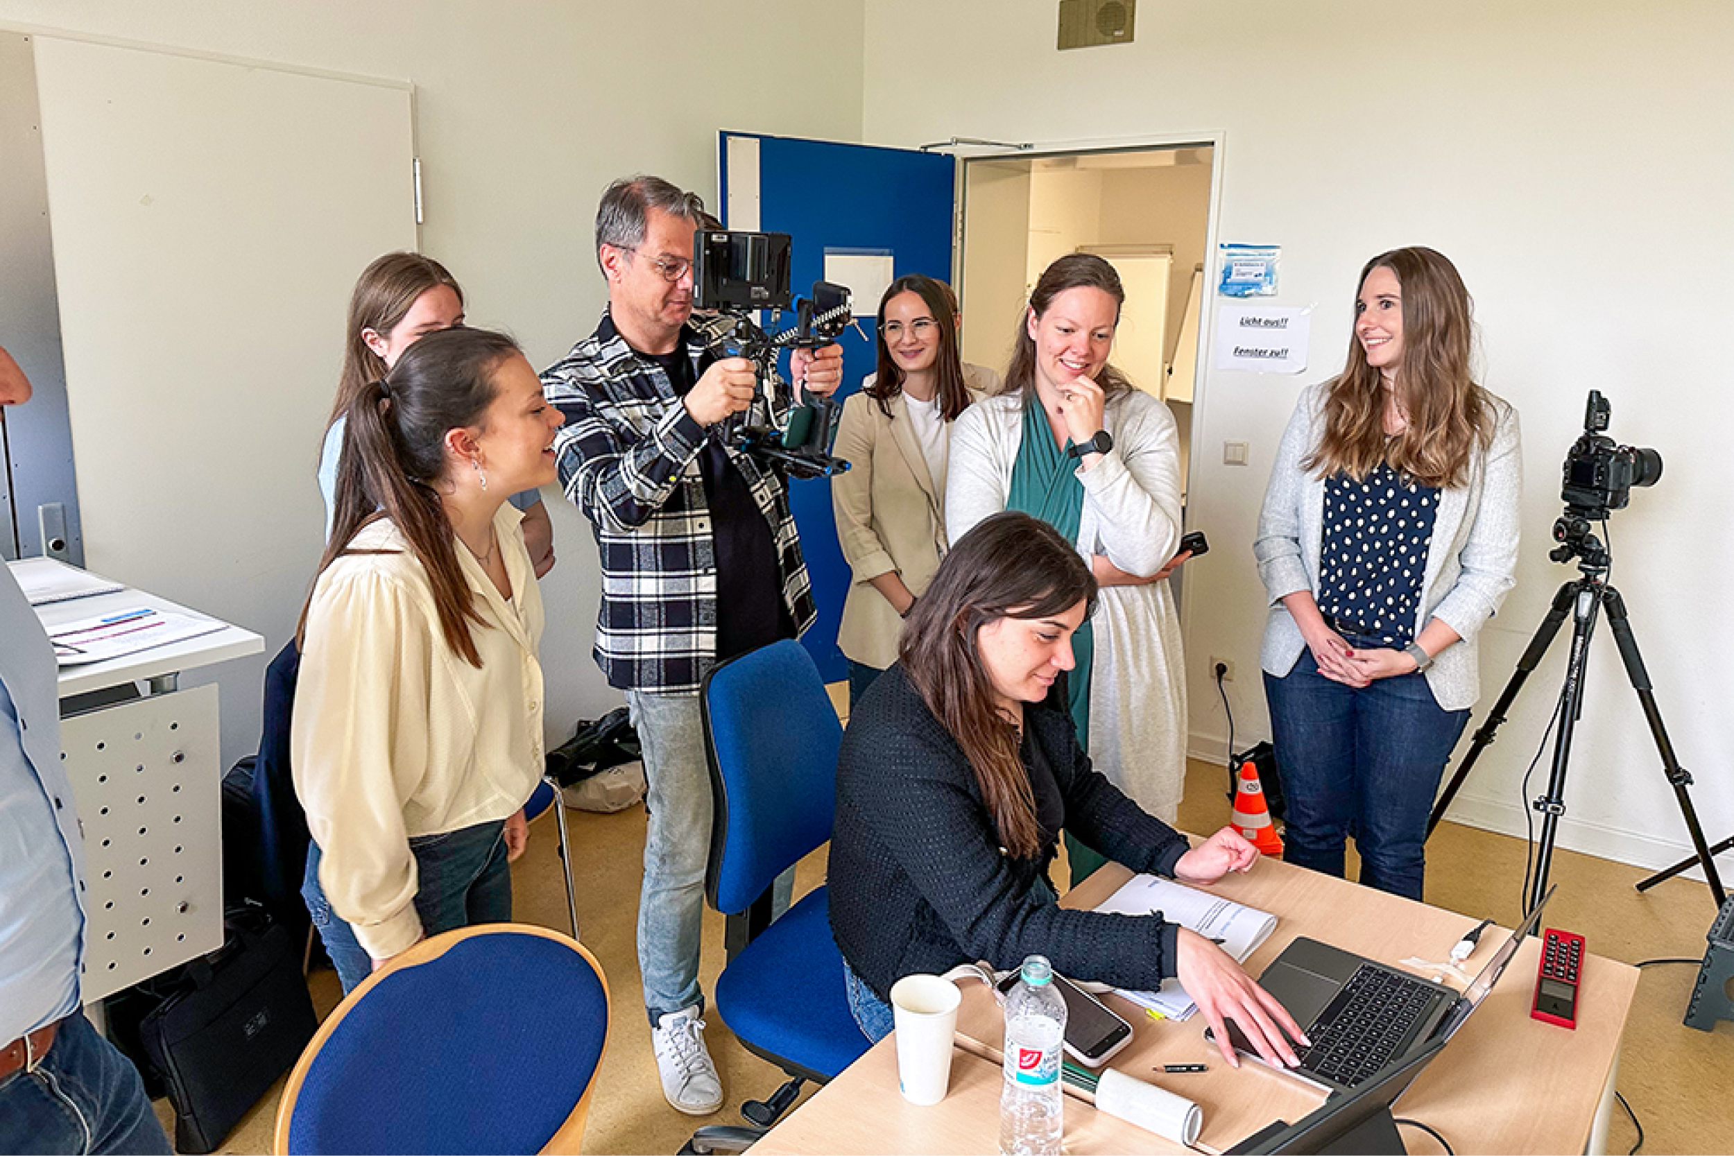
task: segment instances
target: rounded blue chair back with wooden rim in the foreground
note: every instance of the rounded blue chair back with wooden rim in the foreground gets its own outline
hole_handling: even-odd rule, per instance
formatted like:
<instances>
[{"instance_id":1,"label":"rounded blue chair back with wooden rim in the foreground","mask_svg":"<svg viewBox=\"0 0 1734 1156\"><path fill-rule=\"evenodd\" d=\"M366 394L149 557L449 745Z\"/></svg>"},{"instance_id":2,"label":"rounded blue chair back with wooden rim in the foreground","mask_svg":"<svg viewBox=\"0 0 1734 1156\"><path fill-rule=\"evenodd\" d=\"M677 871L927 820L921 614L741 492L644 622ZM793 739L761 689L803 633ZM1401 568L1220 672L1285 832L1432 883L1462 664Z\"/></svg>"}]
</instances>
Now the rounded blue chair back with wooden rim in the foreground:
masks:
<instances>
[{"instance_id":1,"label":"rounded blue chair back with wooden rim in the foreground","mask_svg":"<svg viewBox=\"0 0 1734 1156\"><path fill-rule=\"evenodd\" d=\"M274 1151L576 1153L609 981L558 931L460 927L368 976L314 1035Z\"/></svg>"}]
</instances>

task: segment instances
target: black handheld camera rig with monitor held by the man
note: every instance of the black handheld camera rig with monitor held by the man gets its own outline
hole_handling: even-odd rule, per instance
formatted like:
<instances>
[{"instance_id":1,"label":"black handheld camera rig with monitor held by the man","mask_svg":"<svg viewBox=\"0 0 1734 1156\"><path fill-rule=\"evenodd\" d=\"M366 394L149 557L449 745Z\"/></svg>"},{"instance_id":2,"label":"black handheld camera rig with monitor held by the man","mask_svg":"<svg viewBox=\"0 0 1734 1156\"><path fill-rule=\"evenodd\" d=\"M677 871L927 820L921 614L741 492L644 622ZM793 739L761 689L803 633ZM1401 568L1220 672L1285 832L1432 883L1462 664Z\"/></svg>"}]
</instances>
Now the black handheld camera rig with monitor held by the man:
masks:
<instances>
[{"instance_id":1,"label":"black handheld camera rig with monitor held by the man","mask_svg":"<svg viewBox=\"0 0 1734 1156\"><path fill-rule=\"evenodd\" d=\"M723 348L730 357L746 357L758 367L758 380L775 390L775 406L782 409L791 407L794 399L792 386L777 376L777 354L831 345L855 321L846 286L815 281L812 298L792 300L789 248L786 232L725 229L701 229L692 244L692 307L733 322ZM782 310L791 307L796 324L782 333L766 333L753 319L753 314L770 310L770 324L775 326ZM798 478L843 473L850 463L831 456L841 407L829 397L808 397L808 409L812 421L805 432L794 421L787 430L749 426L746 414L733 414L723 437Z\"/></svg>"}]
</instances>

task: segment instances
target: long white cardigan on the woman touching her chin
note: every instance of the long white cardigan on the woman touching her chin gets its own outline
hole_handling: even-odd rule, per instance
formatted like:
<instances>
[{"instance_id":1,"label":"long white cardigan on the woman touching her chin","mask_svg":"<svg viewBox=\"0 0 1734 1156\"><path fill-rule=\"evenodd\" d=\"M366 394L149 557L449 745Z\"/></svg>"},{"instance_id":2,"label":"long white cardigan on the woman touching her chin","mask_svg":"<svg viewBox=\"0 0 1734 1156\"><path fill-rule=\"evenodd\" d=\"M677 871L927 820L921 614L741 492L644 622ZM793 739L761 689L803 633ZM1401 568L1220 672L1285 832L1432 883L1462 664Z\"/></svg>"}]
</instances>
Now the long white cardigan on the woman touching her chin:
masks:
<instances>
[{"instance_id":1,"label":"long white cardigan on the woman touching her chin","mask_svg":"<svg viewBox=\"0 0 1734 1156\"><path fill-rule=\"evenodd\" d=\"M1179 437L1169 407L1138 390L1108 400L1113 449L1084 482L1079 553L1155 574L1181 541ZM1023 445L1023 397L988 397L952 423L945 530L955 544L1006 508ZM1169 582L1110 586L1094 617L1089 756L1144 811L1172 822L1186 778L1186 676Z\"/></svg>"}]
</instances>

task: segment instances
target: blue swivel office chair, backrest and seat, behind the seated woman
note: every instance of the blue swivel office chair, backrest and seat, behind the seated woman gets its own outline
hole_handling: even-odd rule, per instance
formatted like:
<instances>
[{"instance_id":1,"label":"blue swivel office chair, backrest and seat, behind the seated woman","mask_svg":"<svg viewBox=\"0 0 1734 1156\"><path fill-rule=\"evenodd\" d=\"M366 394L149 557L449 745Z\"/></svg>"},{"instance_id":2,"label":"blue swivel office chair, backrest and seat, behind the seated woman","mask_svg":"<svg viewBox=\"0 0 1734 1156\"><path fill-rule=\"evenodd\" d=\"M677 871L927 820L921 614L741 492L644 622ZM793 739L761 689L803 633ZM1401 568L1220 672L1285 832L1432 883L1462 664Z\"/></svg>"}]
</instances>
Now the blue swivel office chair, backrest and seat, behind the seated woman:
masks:
<instances>
[{"instance_id":1,"label":"blue swivel office chair, backrest and seat, behind the seated woman","mask_svg":"<svg viewBox=\"0 0 1734 1156\"><path fill-rule=\"evenodd\" d=\"M825 887L772 922L772 882L831 841L843 726L796 641L713 669L701 707L714 801L706 898L728 915L716 1012L749 1052L791 1076L770 1101L742 1107L768 1128L803 1081L825 1083L867 1050L850 1014Z\"/></svg>"}]
</instances>

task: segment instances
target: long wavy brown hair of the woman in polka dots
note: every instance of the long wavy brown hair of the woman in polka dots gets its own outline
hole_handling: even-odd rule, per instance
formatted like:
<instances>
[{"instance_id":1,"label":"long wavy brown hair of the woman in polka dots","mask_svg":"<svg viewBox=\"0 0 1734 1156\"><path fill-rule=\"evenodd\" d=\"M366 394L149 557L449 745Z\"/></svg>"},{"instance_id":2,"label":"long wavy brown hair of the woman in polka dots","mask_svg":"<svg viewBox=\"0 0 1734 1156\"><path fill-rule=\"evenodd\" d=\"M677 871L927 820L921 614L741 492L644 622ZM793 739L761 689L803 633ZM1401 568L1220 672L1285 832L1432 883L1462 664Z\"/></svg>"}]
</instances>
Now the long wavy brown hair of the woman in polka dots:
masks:
<instances>
[{"instance_id":1,"label":"long wavy brown hair of the woman in polka dots","mask_svg":"<svg viewBox=\"0 0 1734 1156\"><path fill-rule=\"evenodd\" d=\"M1325 386L1325 433L1302 464L1320 477L1347 473L1356 482L1389 463L1420 485L1462 485L1469 456L1493 435L1493 406L1470 376L1474 303L1457 267L1434 250L1411 246L1380 253L1361 267L1389 269L1403 289L1403 357L1392 392L1408 426L1385 437L1385 388L1353 328L1349 360Z\"/></svg>"}]
</instances>

